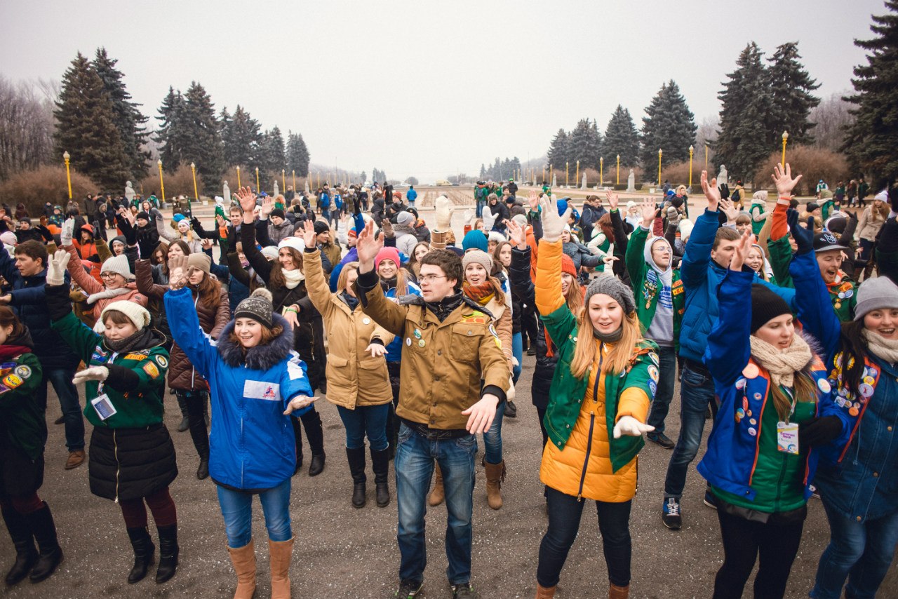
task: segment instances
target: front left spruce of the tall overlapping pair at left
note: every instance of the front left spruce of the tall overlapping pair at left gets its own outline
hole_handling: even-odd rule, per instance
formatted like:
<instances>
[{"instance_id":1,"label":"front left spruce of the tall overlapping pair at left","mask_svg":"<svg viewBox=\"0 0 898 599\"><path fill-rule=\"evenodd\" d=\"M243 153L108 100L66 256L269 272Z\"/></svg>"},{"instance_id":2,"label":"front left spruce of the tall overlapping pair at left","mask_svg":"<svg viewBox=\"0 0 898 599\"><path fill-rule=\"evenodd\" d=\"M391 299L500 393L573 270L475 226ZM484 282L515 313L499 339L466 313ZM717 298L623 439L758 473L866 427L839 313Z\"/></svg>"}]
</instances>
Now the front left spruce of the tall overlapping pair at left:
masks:
<instances>
[{"instance_id":1,"label":"front left spruce of the tall overlapping pair at left","mask_svg":"<svg viewBox=\"0 0 898 599\"><path fill-rule=\"evenodd\" d=\"M56 107L57 155L68 152L72 168L101 186L122 188L130 171L112 100L100 75L80 52L63 75Z\"/></svg>"}]
</instances>

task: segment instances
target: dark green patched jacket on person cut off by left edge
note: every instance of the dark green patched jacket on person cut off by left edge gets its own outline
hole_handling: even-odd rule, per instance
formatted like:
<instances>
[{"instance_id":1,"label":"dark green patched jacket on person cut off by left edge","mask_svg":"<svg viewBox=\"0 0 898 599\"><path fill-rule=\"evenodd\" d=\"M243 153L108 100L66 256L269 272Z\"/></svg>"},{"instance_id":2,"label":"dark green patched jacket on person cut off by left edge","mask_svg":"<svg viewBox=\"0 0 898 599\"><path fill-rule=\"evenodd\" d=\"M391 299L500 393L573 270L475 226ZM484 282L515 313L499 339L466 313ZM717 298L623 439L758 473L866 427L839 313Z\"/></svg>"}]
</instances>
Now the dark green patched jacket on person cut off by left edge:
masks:
<instances>
[{"instance_id":1,"label":"dark green patched jacket on person cut off by left edge","mask_svg":"<svg viewBox=\"0 0 898 599\"><path fill-rule=\"evenodd\" d=\"M0 430L3 445L17 447L32 460L44 453L47 422L35 392L43 376L38 357L27 352L0 364Z\"/></svg>"}]
</instances>

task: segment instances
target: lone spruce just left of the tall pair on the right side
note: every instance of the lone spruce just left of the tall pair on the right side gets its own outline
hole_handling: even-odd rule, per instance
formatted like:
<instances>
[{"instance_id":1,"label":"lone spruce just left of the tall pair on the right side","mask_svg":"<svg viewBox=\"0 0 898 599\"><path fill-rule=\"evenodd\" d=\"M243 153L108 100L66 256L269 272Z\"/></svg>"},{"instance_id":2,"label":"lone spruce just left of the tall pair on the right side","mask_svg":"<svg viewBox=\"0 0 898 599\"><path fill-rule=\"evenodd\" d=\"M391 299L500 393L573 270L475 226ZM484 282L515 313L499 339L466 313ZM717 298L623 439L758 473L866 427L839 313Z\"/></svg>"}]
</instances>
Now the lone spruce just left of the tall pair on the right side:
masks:
<instances>
[{"instance_id":1,"label":"lone spruce just left of the tall pair on the right side","mask_svg":"<svg viewBox=\"0 0 898 599\"><path fill-rule=\"evenodd\" d=\"M671 79L661 86L642 119L640 158L646 169L657 167L658 149L665 163L689 160L689 146L695 145L695 116L689 110L680 87Z\"/></svg>"}]
</instances>

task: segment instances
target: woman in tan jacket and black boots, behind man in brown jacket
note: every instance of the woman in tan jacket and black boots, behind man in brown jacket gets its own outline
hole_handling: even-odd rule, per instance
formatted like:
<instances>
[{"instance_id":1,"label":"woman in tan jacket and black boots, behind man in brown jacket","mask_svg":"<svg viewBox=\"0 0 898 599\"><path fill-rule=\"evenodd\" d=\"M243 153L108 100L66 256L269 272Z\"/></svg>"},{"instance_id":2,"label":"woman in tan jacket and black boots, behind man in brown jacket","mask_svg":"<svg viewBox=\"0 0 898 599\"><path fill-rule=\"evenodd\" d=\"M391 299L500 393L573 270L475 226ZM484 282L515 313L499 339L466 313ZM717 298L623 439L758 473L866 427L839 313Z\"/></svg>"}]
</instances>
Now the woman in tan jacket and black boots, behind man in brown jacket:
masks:
<instances>
[{"instance_id":1,"label":"woman in tan jacket and black boots, behind man in brown jacket","mask_svg":"<svg viewBox=\"0 0 898 599\"><path fill-rule=\"evenodd\" d=\"M365 507L365 435L371 446L375 494L378 507L390 504L387 477L386 421L392 389L387 374L386 346L393 336L362 313L352 284L358 277L358 262L348 262L331 294L321 269L315 229L306 221L303 234L305 288L321 313L328 336L328 401L337 405L346 427L346 456L352 474L353 507Z\"/></svg>"}]
</instances>

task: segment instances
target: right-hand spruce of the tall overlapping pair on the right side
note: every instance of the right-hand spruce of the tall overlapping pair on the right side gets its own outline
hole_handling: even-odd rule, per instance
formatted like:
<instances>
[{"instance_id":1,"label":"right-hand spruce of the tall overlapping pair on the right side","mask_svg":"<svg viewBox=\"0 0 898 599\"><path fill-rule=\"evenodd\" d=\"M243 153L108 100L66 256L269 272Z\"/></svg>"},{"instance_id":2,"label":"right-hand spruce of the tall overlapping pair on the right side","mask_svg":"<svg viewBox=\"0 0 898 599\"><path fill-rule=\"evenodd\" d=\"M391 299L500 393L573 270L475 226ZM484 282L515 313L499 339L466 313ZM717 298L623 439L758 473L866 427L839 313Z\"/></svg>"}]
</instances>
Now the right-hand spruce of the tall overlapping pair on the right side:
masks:
<instances>
[{"instance_id":1,"label":"right-hand spruce of the tall overlapping pair on the right side","mask_svg":"<svg viewBox=\"0 0 898 599\"><path fill-rule=\"evenodd\" d=\"M770 66L767 67L766 87L772 94L766 127L770 151L782 143L783 131L788 131L789 143L814 143L810 133L814 123L808 117L820 103L820 98L811 93L820 84L808 75L800 58L797 42L790 41L777 47L773 56L767 59Z\"/></svg>"}]
</instances>

